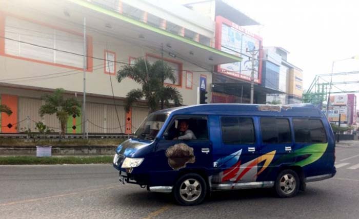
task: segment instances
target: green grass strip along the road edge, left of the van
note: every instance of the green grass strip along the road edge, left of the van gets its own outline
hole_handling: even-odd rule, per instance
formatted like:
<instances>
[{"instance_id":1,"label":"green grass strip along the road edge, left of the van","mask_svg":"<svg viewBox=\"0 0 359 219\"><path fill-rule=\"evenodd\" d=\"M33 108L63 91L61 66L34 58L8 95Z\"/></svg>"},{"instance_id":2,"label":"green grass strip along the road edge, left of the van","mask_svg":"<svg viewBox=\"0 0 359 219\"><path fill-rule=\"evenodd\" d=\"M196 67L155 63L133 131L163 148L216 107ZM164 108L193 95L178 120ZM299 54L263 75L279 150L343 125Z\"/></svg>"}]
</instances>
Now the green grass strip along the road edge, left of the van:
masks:
<instances>
[{"instance_id":1,"label":"green grass strip along the road edge, left of the van","mask_svg":"<svg viewBox=\"0 0 359 219\"><path fill-rule=\"evenodd\" d=\"M3 156L0 165L18 164L110 164L112 156L66 156L66 157L35 157L35 156Z\"/></svg>"}]
</instances>

